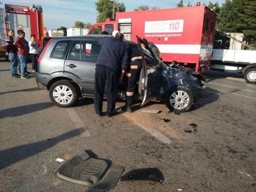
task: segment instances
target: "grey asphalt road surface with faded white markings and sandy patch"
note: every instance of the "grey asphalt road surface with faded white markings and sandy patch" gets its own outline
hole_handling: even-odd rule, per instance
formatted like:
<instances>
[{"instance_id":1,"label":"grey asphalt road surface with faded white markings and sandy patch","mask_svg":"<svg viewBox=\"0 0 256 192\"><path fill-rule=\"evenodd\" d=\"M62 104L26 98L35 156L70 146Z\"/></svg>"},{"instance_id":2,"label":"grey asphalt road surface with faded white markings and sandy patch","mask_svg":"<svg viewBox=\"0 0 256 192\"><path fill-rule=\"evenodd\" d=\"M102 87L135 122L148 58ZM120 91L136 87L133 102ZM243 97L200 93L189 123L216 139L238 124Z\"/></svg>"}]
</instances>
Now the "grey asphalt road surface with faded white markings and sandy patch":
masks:
<instances>
[{"instance_id":1,"label":"grey asphalt road surface with faded white markings and sandy patch","mask_svg":"<svg viewBox=\"0 0 256 192\"><path fill-rule=\"evenodd\" d=\"M162 184L119 181L114 192L256 191L256 85L240 74L207 72L206 94L186 113L150 102L144 108L161 112L143 113L137 103L135 112L111 118L94 116L90 98L73 108L54 106L33 75L9 74L9 63L0 62L0 191L105 191L54 177L80 150L123 166L124 173L158 168L164 176Z\"/></svg>"}]
</instances>

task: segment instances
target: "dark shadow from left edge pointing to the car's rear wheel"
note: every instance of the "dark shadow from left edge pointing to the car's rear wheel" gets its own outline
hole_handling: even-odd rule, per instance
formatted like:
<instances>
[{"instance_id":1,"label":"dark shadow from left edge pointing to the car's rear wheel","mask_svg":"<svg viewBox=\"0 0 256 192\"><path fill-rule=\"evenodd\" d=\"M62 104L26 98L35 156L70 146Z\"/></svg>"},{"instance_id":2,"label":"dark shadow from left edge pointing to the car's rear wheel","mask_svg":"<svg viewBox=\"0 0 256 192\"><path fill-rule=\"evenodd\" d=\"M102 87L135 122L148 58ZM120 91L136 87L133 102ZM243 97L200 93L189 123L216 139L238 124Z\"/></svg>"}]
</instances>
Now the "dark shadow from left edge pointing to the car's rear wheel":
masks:
<instances>
[{"instance_id":1,"label":"dark shadow from left edge pointing to the car's rear wheel","mask_svg":"<svg viewBox=\"0 0 256 192\"><path fill-rule=\"evenodd\" d=\"M36 103L36 104L8 108L8 109L0 110L0 119L6 118L6 117L17 117L17 116L33 113L36 111L44 110L52 106L54 106L52 102L45 102L45 103Z\"/></svg>"}]
</instances>

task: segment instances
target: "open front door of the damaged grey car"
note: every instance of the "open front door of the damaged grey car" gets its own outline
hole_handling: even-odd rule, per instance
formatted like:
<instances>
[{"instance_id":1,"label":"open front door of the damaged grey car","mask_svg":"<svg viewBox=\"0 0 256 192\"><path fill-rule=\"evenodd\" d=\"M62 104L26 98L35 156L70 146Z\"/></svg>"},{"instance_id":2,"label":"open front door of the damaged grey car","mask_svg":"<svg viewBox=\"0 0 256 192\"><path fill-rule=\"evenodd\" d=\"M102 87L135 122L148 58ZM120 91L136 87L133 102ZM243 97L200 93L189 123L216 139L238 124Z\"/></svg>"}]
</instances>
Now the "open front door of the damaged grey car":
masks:
<instances>
[{"instance_id":1,"label":"open front door of the damaged grey car","mask_svg":"<svg viewBox=\"0 0 256 192\"><path fill-rule=\"evenodd\" d=\"M138 47L142 56L142 70L140 77L139 92L144 96L141 106L154 100L161 89L161 73L158 60L148 45L138 36ZM142 47L143 45L143 47Z\"/></svg>"}]
</instances>

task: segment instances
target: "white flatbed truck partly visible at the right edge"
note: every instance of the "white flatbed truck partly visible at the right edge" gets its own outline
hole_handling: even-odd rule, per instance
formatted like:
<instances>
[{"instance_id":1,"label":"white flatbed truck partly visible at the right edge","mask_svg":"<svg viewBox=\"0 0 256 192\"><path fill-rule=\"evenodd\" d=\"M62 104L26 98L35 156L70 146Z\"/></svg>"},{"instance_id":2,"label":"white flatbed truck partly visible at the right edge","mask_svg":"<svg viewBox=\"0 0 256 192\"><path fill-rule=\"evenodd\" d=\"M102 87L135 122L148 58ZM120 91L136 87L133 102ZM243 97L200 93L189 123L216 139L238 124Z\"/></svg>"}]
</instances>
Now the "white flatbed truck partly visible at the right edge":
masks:
<instances>
[{"instance_id":1,"label":"white flatbed truck partly visible at the right edge","mask_svg":"<svg viewBox=\"0 0 256 192\"><path fill-rule=\"evenodd\" d=\"M256 48L234 36L238 34L216 31L211 70L242 72L246 82L256 84ZM242 45L250 50L241 50Z\"/></svg>"}]
</instances>

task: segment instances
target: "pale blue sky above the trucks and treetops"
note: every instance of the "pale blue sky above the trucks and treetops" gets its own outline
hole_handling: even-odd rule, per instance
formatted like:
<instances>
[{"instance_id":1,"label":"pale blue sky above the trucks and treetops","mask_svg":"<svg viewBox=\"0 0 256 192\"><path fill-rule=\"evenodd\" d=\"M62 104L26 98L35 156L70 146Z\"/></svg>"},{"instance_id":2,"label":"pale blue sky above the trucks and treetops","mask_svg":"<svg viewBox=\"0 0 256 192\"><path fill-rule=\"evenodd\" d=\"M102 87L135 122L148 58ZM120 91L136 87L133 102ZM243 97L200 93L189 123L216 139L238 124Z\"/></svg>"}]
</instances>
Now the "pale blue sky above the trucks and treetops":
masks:
<instances>
[{"instance_id":1,"label":"pale blue sky above the trucks and treetops","mask_svg":"<svg viewBox=\"0 0 256 192\"><path fill-rule=\"evenodd\" d=\"M124 2L126 11L133 11L138 6L148 5L158 6L160 8L172 8L176 7L176 4L180 0L119 0ZM75 21L96 22L97 11L95 8L95 2L97 0L5 0L6 4L32 6L41 5L43 8L44 27L47 30L57 29L60 26L70 28L74 26ZM210 0L183 0L184 6L190 4L195 5L196 2L201 4L208 3ZM220 5L225 0L212 0L212 2L218 2Z\"/></svg>"}]
</instances>

